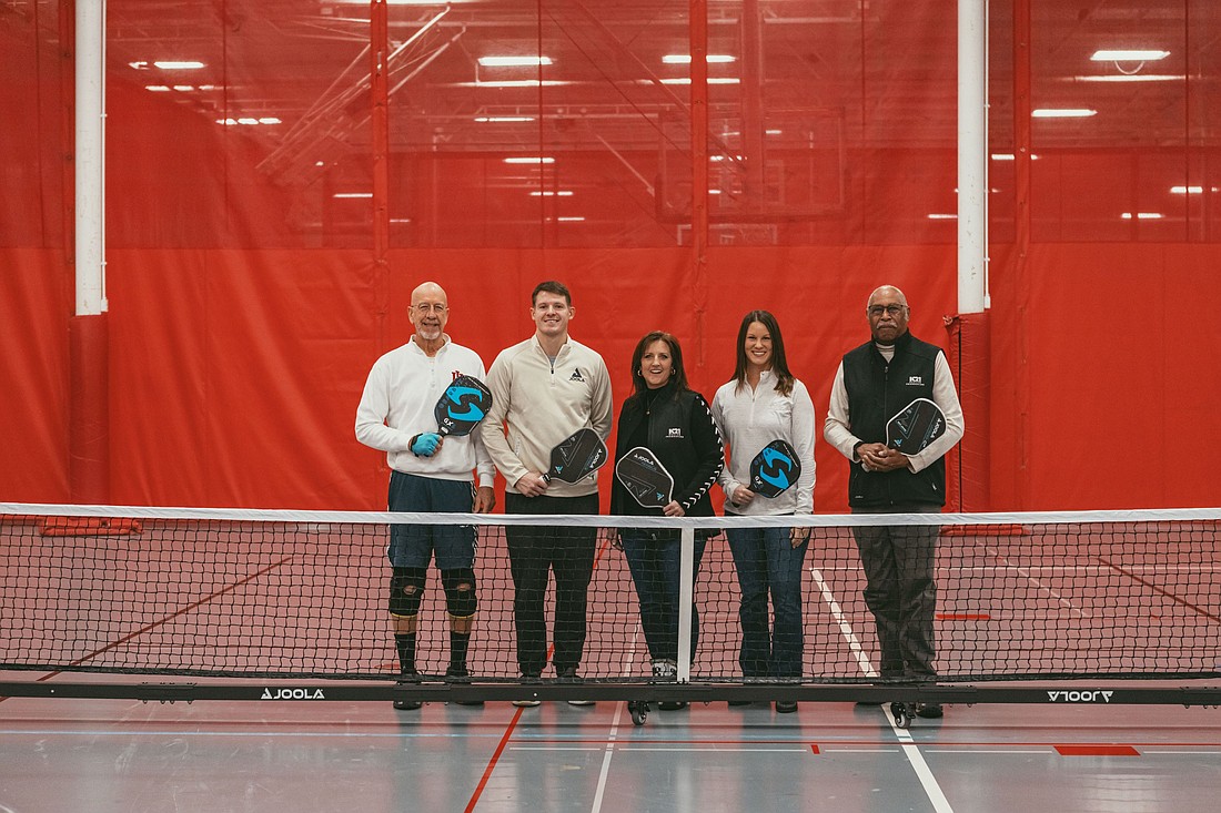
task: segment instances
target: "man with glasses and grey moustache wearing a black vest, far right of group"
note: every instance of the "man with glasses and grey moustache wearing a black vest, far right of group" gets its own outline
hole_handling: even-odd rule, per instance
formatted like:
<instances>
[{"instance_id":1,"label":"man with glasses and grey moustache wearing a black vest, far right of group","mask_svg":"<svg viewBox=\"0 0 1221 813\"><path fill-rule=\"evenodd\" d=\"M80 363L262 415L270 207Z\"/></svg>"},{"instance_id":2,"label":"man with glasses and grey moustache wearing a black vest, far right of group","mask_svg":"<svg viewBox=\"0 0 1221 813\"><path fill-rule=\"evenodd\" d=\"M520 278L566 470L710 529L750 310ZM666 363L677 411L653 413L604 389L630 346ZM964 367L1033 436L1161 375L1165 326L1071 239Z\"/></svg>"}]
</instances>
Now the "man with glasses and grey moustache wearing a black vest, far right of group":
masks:
<instances>
[{"instance_id":1,"label":"man with glasses and grey moustache wearing a black vest, far right of group","mask_svg":"<svg viewBox=\"0 0 1221 813\"><path fill-rule=\"evenodd\" d=\"M844 355L832 385L823 436L850 461L853 514L940 513L945 505L945 453L962 437L962 406L939 347L907 331L904 292L882 286L866 306L872 339ZM886 447L886 421L915 398L945 413L945 433L917 454ZM933 615L937 525L855 526L864 568L864 603L873 613L884 679L934 681ZM917 704L921 717L941 717L940 703Z\"/></svg>"}]
</instances>

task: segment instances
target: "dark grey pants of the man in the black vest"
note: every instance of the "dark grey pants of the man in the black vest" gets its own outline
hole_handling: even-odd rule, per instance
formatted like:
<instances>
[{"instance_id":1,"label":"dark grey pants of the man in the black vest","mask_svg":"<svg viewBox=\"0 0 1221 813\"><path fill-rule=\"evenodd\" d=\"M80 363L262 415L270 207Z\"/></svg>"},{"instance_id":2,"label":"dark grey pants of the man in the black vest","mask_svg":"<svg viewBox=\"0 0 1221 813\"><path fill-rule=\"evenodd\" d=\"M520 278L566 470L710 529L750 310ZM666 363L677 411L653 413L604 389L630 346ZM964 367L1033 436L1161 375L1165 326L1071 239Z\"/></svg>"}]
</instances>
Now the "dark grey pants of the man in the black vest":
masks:
<instances>
[{"instance_id":1,"label":"dark grey pants of the man in the black vest","mask_svg":"<svg viewBox=\"0 0 1221 813\"><path fill-rule=\"evenodd\" d=\"M853 509L853 514L940 513L937 505L897 510ZM938 525L852 526L864 568L864 603L878 625L883 678L935 680L937 645L933 619L937 612Z\"/></svg>"}]
</instances>

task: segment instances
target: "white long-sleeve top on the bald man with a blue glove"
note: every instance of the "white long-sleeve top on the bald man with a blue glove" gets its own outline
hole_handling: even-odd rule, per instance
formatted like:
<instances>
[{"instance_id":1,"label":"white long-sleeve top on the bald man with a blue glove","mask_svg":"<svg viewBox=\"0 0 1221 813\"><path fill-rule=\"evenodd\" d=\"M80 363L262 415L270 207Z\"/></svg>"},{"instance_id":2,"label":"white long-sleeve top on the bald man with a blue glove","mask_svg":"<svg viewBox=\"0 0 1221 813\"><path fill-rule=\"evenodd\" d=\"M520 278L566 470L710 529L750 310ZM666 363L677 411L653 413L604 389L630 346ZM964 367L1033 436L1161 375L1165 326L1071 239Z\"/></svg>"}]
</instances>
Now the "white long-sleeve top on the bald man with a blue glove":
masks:
<instances>
[{"instance_id":1,"label":"white long-sleeve top on the bald man with a blue glove","mask_svg":"<svg viewBox=\"0 0 1221 813\"><path fill-rule=\"evenodd\" d=\"M357 406L357 439L385 452L386 463L396 471L468 482L477 474L479 485L491 487L496 469L477 428L465 437L446 437L431 458L416 457L409 447L416 435L437 431L432 409L459 374L482 381L484 360L448 336L437 354L429 356L413 336L369 371Z\"/></svg>"}]
</instances>

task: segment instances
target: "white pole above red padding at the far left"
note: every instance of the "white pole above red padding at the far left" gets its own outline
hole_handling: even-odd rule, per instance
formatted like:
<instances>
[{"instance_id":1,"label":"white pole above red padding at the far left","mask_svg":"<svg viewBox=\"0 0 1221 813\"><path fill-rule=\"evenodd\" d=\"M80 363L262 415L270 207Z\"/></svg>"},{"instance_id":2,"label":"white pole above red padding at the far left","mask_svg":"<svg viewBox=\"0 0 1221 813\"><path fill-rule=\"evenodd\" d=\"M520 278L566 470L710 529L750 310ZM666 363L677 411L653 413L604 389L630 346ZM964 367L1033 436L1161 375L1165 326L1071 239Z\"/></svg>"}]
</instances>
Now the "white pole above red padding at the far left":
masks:
<instances>
[{"instance_id":1,"label":"white pole above red padding at the far left","mask_svg":"<svg viewBox=\"0 0 1221 813\"><path fill-rule=\"evenodd\" d=\"M76 2L76 314L106 311L106 1Z\"/></svg>"}]
</instances>

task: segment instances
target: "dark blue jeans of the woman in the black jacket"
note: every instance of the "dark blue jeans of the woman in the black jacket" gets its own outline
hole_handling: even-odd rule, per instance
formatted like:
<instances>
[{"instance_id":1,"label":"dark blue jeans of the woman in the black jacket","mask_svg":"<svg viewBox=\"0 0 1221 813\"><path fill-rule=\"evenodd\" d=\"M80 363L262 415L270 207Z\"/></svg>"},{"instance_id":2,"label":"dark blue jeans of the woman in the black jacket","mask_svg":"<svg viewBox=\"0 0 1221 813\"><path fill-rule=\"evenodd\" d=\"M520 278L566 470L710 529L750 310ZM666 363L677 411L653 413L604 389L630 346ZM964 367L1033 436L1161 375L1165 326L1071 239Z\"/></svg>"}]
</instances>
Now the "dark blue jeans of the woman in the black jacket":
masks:
<instances>
[{"instance_id":1,"label":"dark blue jeans of the woman in the black jacket","mask_svg":"<svg viewBox=\"0 0 1221 813\"><path fill-rule=\"evenodd\" d=\"M654 660L679 659L679 570L681 543L678 531L623 529L623 553L631 570L640 599L640 625L645 629L648 654ZM707 540L695 537L695 573ZM691 657L700 638L700 614L691 602Z\"/></svg>"}]
</instances>

